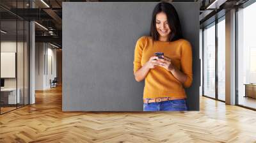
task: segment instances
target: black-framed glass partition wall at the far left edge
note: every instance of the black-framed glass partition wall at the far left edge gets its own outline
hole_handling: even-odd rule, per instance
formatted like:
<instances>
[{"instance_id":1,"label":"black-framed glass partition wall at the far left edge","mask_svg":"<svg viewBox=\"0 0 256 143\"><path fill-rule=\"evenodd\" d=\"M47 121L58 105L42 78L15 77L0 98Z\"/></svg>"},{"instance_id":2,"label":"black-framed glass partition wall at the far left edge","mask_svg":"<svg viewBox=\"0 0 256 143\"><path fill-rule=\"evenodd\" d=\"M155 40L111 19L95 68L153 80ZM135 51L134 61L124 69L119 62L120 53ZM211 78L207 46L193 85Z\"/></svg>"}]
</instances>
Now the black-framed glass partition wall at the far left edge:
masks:
<instances>
[{"instance_id":1,"label":"black-framed glass partition wall at the far left edge","mask_svg":"<svg viewBox=\"0 0 256 143\"><path fill-rule=\"evenodd\" d=\"M13 9L29 8L28 2L0 1L0 4ZM3 114L29 104L29 22L0 8L0 30L0 114Z\"/></svg>"}]
</instances>

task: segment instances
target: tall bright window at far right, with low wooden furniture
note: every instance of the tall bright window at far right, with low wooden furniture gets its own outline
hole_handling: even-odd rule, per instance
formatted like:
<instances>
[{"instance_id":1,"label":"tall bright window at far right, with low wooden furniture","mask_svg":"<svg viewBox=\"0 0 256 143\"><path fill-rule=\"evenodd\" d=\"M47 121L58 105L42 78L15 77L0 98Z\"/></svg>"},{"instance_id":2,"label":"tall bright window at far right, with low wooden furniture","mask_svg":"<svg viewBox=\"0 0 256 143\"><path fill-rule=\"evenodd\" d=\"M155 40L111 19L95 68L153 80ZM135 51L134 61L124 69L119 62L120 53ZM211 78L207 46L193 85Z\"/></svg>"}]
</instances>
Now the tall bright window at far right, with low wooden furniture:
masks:
<instances>
[{"instance_id":1,"label":"tall bright window at far right, with low wooden furniture","mask_svg":"<svg viewBox=\"0 0 256 143\"><path fill-rule=\"evenodd\" d=\"M256 3L237 11L238 104L256 109Z\"/></svg>"}]
</instances>

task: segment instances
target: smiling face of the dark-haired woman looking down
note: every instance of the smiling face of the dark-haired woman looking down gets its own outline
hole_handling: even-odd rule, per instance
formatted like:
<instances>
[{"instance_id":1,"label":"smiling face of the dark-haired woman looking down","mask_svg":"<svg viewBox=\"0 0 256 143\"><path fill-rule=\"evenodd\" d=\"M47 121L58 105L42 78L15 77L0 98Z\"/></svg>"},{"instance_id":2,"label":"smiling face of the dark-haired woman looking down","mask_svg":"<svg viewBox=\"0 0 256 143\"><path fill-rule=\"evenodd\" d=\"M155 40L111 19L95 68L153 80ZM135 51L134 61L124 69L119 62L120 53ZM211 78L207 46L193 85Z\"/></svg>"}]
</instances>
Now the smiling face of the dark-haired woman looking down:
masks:
<instances>
[{"instance_id":1,"label":"smiling face of the dark-haired woman looking down","mask_svg":"<svg viewBox=\"0 0 256 143\"><path fill-rule=\"evenodd\" d=\"M167 41L169 34L171 33L171 29L168 25L167 16L163 12L157 13L156 15L156 29L159 33L159 40Z\"/></svg>"}]
</instances>

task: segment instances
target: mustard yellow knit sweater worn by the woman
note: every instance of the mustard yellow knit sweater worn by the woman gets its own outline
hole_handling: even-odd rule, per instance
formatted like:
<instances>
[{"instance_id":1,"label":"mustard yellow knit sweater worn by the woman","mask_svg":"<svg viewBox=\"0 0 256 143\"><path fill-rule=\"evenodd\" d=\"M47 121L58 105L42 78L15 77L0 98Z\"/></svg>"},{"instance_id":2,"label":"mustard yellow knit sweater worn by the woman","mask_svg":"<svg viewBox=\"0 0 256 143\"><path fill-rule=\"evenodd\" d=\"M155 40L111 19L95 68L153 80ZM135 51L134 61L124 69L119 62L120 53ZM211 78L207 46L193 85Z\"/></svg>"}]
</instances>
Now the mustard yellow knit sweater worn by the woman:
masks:
<instances>
[{"instance_id":1,"label":"mustard yellow knit sweater worn by the woman","mask_svg":"<svg viewBox=\"0 0 256 143\"><path fill-rule=\"evenodd\" d=\"M134 73L141 68L155 52L163 52L164 56L172 59L172 64L185 73L188 78L184 84L177 80L171 72L156 66L149 70L145 77L143 98L172 97L184 99L184 87L191 86L192 75L192 49L189 41L180 39L176 41L154 41L150 36L141 37L134 50Z\"/></svg>"}]
</instances>

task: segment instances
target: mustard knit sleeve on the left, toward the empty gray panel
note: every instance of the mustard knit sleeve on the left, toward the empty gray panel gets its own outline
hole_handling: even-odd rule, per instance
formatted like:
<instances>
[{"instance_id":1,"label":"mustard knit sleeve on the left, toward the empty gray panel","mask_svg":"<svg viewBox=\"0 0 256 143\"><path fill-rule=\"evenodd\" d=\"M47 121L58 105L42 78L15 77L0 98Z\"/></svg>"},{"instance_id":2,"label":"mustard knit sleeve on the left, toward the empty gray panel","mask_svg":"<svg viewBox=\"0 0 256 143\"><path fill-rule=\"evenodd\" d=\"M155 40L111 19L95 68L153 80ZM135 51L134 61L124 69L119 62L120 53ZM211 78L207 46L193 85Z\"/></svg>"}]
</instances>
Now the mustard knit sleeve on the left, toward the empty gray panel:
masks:
<instances>
[{"instance_id":1,"label":"mustard knit sleeve on the left, toward the empty gray panel","mask_svg":"<svg viewBox=\"0 0 256 143\"><path fill-rule=\"evenodd\" d=\"M137 72L141 68L141 57L145 43L145 36L138 39L134 50L134 61L133 61L133 73Z\"/></svg>"}]
</instances>

